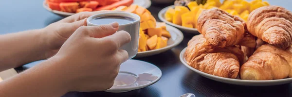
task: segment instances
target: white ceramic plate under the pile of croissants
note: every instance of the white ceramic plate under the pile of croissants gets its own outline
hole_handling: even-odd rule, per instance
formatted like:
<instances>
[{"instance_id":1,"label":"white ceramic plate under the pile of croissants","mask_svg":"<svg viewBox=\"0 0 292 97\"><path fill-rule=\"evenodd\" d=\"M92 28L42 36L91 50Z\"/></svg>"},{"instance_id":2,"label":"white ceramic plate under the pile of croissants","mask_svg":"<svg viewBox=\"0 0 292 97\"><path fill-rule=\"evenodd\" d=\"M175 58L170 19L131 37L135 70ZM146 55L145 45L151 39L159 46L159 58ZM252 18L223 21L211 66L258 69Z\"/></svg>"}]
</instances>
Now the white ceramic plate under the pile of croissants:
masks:
<instances>
[{"instance_id":1,"label":"white ceramic plate under the pile of croissants","mask_svg":"<svg viewBox=\"0 0 292 97\"><path fill-rule=\"evenodd\" d=\"M196 73L200 74L201 76L214 80L214 81L220 81L220 82L236 84L236 85L245 85L245 86L270 86L270 85L280 85L280 84L286 84L286 83L292 82L292 78L281 79L281 80L268 80L268 81L250 81L250 80L240 80L240 79L229 79L229 78L223 78L223 77L207 74L186 64L186 61L184 59L185 49L186 48L184 48L180 54L180 60L183 63L183 65L195 71Z\"/></svg>"}]
</instances>

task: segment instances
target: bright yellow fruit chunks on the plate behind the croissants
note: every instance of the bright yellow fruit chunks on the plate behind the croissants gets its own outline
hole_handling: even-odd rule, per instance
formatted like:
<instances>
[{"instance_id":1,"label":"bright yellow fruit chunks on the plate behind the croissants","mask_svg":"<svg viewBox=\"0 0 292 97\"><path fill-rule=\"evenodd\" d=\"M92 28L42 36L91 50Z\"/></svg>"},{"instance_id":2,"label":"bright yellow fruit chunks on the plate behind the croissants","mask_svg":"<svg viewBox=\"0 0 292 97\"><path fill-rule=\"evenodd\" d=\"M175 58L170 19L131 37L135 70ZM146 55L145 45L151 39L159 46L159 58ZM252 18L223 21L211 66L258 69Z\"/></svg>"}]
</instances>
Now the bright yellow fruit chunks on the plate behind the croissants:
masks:
<instances>
[{"instance_id":1,"label":"bright yellow fruit chunks on the plate behind the croissants","mask_svg":"<svg viewBox=\"0 0 292 97\"><path fill-rule=\"evenodd\" d=\"M270 4L262 0L252 0L250 2L246 0L224 0L222 3L220 0L177 0L174 5L174 8L167 9L164 18L173 24L187 28L197 28L198 17L202 10L219 8L247 21L250 12Z\"/></svg>"}]
</instances>

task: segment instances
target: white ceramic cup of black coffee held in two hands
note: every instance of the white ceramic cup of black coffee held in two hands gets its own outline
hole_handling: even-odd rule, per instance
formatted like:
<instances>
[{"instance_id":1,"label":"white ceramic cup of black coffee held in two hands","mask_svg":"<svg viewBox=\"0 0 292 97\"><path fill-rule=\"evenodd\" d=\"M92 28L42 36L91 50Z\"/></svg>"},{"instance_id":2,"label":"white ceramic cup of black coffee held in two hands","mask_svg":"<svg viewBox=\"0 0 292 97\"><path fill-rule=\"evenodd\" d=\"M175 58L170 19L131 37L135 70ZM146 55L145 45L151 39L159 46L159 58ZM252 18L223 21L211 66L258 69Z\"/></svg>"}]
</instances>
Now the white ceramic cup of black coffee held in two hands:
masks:
<instances>
[{"instance_id":1,"label":"white ceramic cup of black coffee held in two hands","mask_svg":"<svg viewBox=\"0 0 292 97\"><path fill-rule=\"evenodd\" d=\"M126 45L122 46L120 49L124 49L128 52L129 59L134 58L138 52L140 16L133 13L128 13L128 12L100 13L100 14L88 17L86 21L87 26L98 26L97 24L93 24L90 21L94 18L103 17L103 16L125 16L125 17L131 17L134 19L134 21L131 23L119 25L119 29L118 29L118 31L126 31L130 34L131 41L127 43Z\"/></svg>"}]
</instances>

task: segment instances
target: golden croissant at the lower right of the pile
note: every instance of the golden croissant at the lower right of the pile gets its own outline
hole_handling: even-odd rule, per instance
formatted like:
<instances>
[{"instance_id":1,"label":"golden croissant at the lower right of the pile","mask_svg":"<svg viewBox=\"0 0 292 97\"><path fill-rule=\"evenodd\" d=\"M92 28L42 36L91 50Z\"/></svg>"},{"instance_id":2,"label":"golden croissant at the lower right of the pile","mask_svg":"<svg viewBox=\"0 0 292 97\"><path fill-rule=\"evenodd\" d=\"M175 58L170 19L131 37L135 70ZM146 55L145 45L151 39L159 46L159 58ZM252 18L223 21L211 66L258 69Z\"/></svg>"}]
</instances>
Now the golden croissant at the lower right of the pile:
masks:
<instances>
[{"instance_id":1,"label":"golden croissant at the lower right of the pile","mask_svg":"<svg viewBox=\"0 0 292 97\"><path fill-rule=\"evenodd\" d=\"M286 50L265 44L240 68L242 80L276 80L292 77L292 47Z\"/></svg>"}]
</instances>

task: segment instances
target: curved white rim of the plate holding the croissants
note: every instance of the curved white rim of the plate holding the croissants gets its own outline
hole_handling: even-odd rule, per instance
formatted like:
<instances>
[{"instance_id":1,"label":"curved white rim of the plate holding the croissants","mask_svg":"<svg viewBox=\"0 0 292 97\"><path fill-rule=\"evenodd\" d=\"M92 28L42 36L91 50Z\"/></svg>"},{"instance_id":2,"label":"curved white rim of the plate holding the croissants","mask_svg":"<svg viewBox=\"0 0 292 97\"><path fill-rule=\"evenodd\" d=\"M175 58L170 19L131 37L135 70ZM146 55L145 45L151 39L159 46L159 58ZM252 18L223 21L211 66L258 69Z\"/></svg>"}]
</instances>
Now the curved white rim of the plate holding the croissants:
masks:
<instances>
[{"instance_id":1,"label":"curved white rim of the plate holding the croissants","mask_svg":"<svg viewBox=\"0 0 292 97\"><path fill-rule=\"evenodd\" d=\"M204 75L204 76L207 76L207 77L210 77L210 78L213 78L213 79L218 79L218 80L221 80L221 81L225 81L224 83L229 83L229 84L234 84L234 83L231 83L232 82L239 82L239 84L255 84L255 83L275 83L275 82L286 82L286 81L291 81L292 82L292 78L286 78L286 79L279 79L279 80L264 80L264 81L252 81L252 80L239 80L239 79L230 79L230 78L223 78L223 77L219 77L219 76L215 76L215 75L211 75L211 74L207 74L207 73L204 73L200 70L197 70L193 67L191 67L190 65L188 65L186 62L185 62L185 59L184 59L184 52L185 50L187 49L187 47L185 47L181 53L180 53L180 60L181 62L183 63L183 65L185 65L186 67L188 67L189 69L195 71L196 73L198 73L200 76ZM205 78L207 78L205 77ZM210 79L208 78L208 79ZM213 80L211 79L211 80ZM214 80L215 81L215 80ZM227 81L227 82L226 82ZM289 83L291 83L289 82ZM266 85L268 86L268 85Z\"/></svg>"}]
</instances>

